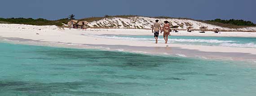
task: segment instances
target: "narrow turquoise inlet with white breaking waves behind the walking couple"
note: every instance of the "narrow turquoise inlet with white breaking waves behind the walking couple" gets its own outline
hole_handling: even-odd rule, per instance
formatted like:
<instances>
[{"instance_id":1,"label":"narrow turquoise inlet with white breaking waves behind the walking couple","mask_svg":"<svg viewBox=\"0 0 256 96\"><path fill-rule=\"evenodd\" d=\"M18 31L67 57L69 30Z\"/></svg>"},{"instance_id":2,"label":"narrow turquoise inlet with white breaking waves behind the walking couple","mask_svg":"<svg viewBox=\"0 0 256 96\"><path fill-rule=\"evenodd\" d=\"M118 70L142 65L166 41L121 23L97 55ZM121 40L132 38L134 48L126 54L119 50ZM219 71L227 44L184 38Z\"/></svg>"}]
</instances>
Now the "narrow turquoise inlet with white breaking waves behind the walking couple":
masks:
<instances>
[{"instance_id":1,"label":"narrow turquoise inlet with white breaking waves behind the walking couple","mask_svg":"<svg viewBox=\"0 0 256 96\"><path fill-rule=\"evenodd\" d=\"M101 35L99 38L139 40L154 42L153 36L149 35ZM164 43L162 35L159 35L159 42ZM230 46L256 48L256 38L243 37L200 37L200 36L169 36L169 43L205 45L205 46Z\"/></svg>"}]
</instances>

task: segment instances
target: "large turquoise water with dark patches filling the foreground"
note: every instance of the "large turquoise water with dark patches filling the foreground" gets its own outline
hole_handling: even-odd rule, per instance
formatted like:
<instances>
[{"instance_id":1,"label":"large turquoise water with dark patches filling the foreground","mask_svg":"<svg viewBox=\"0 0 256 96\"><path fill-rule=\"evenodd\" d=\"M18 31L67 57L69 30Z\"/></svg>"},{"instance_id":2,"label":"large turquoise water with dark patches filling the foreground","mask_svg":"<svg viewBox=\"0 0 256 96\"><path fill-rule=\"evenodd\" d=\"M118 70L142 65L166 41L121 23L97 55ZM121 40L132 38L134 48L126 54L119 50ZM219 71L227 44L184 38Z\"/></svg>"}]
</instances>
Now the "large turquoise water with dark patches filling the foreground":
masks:
<instances>
[{"instance_id":1,"label":"large turquoise water with dark patches filling the foreground","mask_svg":"<svg viewBox=\"0 0 256 96\"><path fill-rule=\"evenodd\" d=\"M102 50L0 43L0 96L255 96L256 68Z\"/></svg>"}]
</instances>

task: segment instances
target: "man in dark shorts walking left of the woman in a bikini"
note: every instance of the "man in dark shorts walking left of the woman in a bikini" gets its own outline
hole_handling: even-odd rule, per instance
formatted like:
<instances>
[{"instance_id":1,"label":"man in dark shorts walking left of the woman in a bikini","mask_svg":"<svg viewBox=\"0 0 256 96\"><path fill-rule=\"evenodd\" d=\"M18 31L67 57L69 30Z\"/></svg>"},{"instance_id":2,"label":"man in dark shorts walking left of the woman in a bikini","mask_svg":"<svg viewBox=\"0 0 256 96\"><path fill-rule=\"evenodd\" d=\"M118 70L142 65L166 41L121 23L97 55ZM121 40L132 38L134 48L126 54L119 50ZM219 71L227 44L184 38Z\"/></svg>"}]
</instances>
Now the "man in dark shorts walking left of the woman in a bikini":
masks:
<instances>
[{"instance_id":1,"label":"man in dark shorts walking left of the woman in a bikini","mask_svg":"<svg viewBox=\"0 0 256 96\"><path fill-rule=\"evenodd\" d=\"M154 33L155 43L158 43L159 31L162 30L161 25L158 23L159 20L155 20L154 25L152 26L152 33ZM153 31L154 30L154 31ZM162 33L162 31L161 31Z\"/></svg>"}]
</instances>

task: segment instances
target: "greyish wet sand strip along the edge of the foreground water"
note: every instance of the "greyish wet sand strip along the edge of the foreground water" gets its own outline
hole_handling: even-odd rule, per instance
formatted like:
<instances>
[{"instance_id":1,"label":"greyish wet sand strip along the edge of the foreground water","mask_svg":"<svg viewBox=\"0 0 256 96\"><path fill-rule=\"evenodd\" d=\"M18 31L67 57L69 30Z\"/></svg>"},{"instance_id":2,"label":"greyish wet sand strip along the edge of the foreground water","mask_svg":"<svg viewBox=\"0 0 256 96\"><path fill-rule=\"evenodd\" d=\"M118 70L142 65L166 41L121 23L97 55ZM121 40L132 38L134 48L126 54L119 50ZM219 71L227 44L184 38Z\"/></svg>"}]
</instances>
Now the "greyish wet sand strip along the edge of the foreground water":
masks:
<instances>
[{"instance_id":1,"label":"greyish wet sand strip along the edge of the foreground water","mask_svg":"<svg viewBox=\"0 0 256 96\"><path fill-rule=\"evenodd\" d=\"M8 41L11 39L12 41ZM5 42L3 42L5 41ZM205 52L200 50L182 49L179 47L148 47L148 46L124 46L124 45L93 45L93 44L77 44L66 42L46 42L38 40L29 40L22 38L4 38L0 37L0 43L21 44L29 46L48 46L59 48L75 48L85 50L104 50L129 52L134 54L174 56L183 58L200 58L207 60L232 60L246 61L256 63L256 54L239 53L239 52ZM170 50L166 52L166 50Z\"/></svg>"}]
</instances>

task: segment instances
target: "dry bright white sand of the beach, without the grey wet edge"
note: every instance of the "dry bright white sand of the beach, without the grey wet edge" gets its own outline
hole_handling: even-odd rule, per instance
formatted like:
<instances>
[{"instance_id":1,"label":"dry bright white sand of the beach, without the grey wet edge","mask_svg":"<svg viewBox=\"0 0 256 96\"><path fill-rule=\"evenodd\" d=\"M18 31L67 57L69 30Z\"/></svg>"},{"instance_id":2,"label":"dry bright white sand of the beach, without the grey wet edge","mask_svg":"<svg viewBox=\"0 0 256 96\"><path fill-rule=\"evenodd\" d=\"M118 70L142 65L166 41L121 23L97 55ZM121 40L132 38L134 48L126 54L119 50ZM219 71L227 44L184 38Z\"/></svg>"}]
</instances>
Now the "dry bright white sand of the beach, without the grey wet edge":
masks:
<instances>
[{"instance_id":1,"label":"dry bright white sand of the beach, without the grey wet edge","mask_svg":"<svg viewBox=\"0 0 256 96\"><path fill-rule=\"evenodd\" d=\"M18 24L0 24L0 37L1 38L22 38L37 40L40 42L62 42L69 44L80 44L80 45L91 45L97 46L130 46L130 49L121 48L124 51L136 52L137 47L159 47L159 48L179 48L186 50L199 50L202 52L220 52L220 53L243 53L256 55L256 48L239 48L239 47L228 47L228 46L200 46L200 45L184 45L184 44L155 44L154 42L141 42L136 40L125 40L125 39L111 39L111 38L100 38L99 35L151 35L151 30L147 29L69 29L59 28L57 26L35 26L35 25L18 25ZM96 36L97 35L97 36ZM159 34L162 36L162 34ZM172 36L219 36L219 37L256 37L256 33L252 32L206 32L199 33L193 31L188 33L186 31L179 31L178 33L171 33ZM171 37L172 37L171 36ZM54 45L53 45L54 46ZM134 48L132 48L134 46ZM168 47L167 47L168 46ZM111 49L111 48L110 48ZM116 48L118 50L120 48ZM216 50L218 49L218 50ZM150 53L152 50L139 50L145 53ZM172 50L165 50L168 51ZM163 54L166 54L163 51ZM157 53L157 52L152 52ZM175 53L175 52L174 52ZM190 52L188 52L190 53ZM179 53L175 53L179 54ZM185 54L186 55L186 54ZM243 58L243 57L241 57Z\"/></svg>"}]
</instances>

